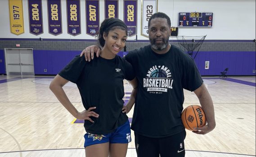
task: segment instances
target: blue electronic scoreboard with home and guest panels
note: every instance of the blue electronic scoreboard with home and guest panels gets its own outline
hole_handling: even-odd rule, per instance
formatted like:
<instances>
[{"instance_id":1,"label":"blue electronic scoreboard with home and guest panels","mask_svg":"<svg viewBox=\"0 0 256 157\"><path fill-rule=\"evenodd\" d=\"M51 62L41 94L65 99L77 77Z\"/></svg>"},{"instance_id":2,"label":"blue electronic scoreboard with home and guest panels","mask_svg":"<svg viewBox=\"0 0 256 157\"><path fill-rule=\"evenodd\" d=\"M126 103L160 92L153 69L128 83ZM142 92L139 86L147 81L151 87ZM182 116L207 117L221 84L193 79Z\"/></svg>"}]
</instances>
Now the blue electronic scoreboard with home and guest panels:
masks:
<instances>
[{"instance_id":1,"label":"blue electronic scoreboard with home and guest panels","mask_svg":"<svg viewBox=\"0 0 256 157\"><path fill-rule=\"evenodd\" d=\"M213 13L179 13L179 27L212 27Z\"/></svg>"}]
</instances>

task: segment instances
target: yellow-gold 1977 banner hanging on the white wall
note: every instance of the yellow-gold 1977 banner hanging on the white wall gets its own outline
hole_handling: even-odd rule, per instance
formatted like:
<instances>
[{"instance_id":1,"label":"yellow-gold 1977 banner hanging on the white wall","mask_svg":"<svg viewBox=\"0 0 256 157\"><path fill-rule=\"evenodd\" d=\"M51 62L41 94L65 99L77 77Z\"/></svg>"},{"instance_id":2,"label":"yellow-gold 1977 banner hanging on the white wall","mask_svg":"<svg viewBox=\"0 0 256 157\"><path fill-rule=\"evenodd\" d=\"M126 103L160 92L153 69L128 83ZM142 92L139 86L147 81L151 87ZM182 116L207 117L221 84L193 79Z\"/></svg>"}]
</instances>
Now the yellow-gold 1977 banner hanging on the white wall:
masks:
<instances>
[{"instance_id":1,"label":"yellow-gold 1977 banner hanging on the white wall","mask_svg":"<svg viewBox=\"0 0 256 157\"><path fill-rule=\"evenodd\" d=\"M9 14L11 33L24 33L22 0L9 0Z\"/></svg>"}]
</instances>

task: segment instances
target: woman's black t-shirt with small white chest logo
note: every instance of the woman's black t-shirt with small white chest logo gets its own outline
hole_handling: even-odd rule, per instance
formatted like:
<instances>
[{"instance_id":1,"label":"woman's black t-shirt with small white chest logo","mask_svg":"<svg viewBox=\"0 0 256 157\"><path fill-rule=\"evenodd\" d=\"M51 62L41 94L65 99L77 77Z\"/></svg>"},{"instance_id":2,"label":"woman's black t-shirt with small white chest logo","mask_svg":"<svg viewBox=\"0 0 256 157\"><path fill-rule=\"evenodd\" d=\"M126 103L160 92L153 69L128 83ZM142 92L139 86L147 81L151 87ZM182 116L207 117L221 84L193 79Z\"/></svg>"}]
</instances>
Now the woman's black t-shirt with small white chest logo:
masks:
<instances>
[{"instance_id":1,"label":"woman's black t-shirt with small white chest logo","mask_svg":"<svg viewBox=\"0 0 256 157\"><path fill-rule=\"evenodd\" d=\"M121 111L124 105L123 79L132 80L135 74L130 63L123 58L94 57L88 62L84 57L76 56L58 74L76 83L86 110L96 106L93 111L99 114L99 118L90 117L94 123L85 120L86 132L108 134L127 121L126 113Z\"/></svg>"}]
</instances>

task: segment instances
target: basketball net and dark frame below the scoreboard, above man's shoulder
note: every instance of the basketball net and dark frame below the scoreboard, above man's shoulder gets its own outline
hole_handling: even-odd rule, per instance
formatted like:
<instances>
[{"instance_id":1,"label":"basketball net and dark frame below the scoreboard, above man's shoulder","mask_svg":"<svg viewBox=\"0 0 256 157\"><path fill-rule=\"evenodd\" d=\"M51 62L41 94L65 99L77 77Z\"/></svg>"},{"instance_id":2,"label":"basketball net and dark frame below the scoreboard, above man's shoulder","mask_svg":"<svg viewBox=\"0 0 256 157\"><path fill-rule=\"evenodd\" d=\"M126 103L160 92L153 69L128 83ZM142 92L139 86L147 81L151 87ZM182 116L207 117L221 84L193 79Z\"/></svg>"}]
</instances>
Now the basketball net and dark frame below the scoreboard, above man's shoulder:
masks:
<instances>
[{"instance_id":1,"label":"basketball net and dark frame below the scoreboard, above man's shoulder","mask_svg":"<svg viewBox=\"0 0 256 157\"><path fill-rule=\"evenodd\" d=\"M205 36L177 36L180 48L193 57L193 52L196 52L194 59L196 58L199 49L205 39Z\"/></svg>"}]
</instances>

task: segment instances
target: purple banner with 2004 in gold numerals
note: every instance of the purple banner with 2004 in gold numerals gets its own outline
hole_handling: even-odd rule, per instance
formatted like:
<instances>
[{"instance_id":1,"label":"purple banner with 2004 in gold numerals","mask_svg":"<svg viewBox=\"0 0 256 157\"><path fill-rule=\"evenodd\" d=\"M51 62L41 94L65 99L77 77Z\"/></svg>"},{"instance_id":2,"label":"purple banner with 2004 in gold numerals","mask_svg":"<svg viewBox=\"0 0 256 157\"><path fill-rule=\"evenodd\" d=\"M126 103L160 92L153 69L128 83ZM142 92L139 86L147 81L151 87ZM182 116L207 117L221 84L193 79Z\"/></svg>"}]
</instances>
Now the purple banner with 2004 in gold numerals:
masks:
<instances>
[{"instance_id":1,"label":"purple banner with 2004 in gold numerals","mask_svg":"<svg viewBox=\"0 0 256 157\"><path fill-rule=\"evenodd\" d=\"M42 1L28 0L29 32L40 35L43 31Z\"/></svg>"}]
</instances>

